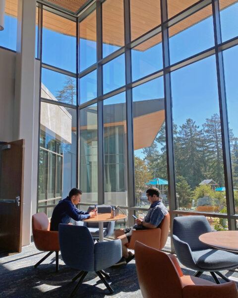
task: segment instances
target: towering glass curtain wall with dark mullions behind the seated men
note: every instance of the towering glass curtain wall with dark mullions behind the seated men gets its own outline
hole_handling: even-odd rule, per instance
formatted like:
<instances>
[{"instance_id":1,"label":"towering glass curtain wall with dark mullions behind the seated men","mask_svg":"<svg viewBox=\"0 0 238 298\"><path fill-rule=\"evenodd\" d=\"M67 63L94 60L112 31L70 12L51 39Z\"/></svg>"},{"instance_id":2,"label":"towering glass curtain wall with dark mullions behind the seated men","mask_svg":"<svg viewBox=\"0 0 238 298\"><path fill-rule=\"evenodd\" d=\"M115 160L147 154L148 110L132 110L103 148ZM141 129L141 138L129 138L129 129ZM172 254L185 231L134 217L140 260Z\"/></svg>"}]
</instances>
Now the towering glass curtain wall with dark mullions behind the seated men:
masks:
<instances>
[{"instance_id":1,"label":"towering glass curtain wall with dark mullions behind the seated men","mask_svg":"<svg viewBox=\"0 0 238 298\"><path fill-rule=\"evenodd\" d=\"M80 145L70 150L85 209L141 214L146 189L157 186L172 219L199 212L215 229L236 229L236 11L235 0L105 0L75 20L43 13L42 102L76 109ZM54 40L60 50L51 57ZM44 146L39 197L57 200L64 151Z\"/></svg>"}]
</instances>

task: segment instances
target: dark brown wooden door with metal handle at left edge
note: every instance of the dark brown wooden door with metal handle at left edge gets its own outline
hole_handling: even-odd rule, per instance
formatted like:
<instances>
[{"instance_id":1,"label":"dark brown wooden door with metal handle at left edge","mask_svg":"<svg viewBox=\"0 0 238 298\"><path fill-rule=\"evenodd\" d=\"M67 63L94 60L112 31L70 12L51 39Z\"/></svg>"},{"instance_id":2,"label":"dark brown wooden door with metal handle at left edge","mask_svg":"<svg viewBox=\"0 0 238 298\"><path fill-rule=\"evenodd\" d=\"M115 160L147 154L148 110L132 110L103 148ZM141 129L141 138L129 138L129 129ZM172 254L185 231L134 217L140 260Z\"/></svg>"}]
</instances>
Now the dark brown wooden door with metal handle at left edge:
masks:
<instances>
[{"instance_id":1,"label":"dark brown wooden door with metal handle at left edge","mask_svg":"<svg viewBox=\"0 0 238 298\"><path fill-rule=\"evenodd\" d=\"M24 140L0 146L0 250L21 252ZM30 181L29 181L30 183Z\"/></svg>"}]
</instances>

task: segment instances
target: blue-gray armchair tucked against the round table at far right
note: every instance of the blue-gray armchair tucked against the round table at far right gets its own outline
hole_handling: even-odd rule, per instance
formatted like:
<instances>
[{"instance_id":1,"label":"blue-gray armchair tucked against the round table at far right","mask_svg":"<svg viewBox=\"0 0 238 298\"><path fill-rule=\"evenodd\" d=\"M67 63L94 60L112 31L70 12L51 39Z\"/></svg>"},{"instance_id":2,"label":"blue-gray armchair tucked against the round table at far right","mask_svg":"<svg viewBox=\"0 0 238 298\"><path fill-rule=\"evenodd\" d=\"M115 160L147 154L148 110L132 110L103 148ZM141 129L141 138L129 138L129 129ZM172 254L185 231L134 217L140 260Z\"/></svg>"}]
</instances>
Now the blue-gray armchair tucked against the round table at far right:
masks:
<instances>
[{"instance_id":1,"label":"blue-gray armchair tucked against the round table at far right","mask_svg":"<svg viewBox=\"0 0 238 298\"><path fill-rule=\"evenodd\" d=\"M230 281L219 271L238 267L238 255L212 248L198 239L201 234L211 231L205 216L177 217L174 219L173 241L179 261L187 268L196 270L194 276L199 277L208 271L215 282L220 284L216 274Z\"/></svg>"}]
</instances>

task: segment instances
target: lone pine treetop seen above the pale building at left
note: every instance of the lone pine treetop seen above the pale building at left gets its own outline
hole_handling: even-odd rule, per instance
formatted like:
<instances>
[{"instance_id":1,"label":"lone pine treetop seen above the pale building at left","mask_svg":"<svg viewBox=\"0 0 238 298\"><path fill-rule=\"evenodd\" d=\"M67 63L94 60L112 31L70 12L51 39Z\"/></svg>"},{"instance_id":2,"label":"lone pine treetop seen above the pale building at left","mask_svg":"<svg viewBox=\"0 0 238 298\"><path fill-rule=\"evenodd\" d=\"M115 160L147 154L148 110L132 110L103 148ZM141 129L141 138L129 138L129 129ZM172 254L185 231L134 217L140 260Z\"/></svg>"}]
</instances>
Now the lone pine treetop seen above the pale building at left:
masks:
<instances>
[{"instance_id":1,"label":"lone pine treetop seen above the pale building at left","mask_svg":"<svg viewBox=\"0 0 238 298\"><path fill-rule=\"evenodd\" d=\"M76 86L74 78L71 76L65 76L63 88L57 91L56 98L64 103L74 104L74 98L76 95Z\"/></svg>"}]
</instances>

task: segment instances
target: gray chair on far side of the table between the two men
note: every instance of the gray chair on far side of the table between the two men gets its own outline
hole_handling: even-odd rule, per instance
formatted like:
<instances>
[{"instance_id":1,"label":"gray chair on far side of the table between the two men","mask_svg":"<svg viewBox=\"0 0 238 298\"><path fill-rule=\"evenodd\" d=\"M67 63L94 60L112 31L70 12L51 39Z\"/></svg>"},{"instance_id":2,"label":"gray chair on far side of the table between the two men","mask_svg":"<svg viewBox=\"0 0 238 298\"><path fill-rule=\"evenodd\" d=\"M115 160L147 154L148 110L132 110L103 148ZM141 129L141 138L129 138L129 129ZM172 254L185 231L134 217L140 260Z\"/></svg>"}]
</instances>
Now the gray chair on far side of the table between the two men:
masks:
<instances>
[{"instance_id":1,"label":"gray chair on far side of the table between the two men","mask_svg":"<svg viewBox=\"0 0 238 298\"><path fill-rule=\"evenodd\" d=\"M88 212L92 211L95 206L89 206ZM111 213L112 206L108 205L98 205L98 213ZM77 225L77 224L76 224ZM84 226L87 226L92 237L94 239L99 239L99 226L98 223L83 223ZM115 222L103 223L103 236L109 237L114 232Z\"/></svg>"}]
</instances>

